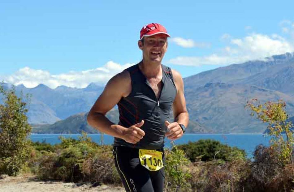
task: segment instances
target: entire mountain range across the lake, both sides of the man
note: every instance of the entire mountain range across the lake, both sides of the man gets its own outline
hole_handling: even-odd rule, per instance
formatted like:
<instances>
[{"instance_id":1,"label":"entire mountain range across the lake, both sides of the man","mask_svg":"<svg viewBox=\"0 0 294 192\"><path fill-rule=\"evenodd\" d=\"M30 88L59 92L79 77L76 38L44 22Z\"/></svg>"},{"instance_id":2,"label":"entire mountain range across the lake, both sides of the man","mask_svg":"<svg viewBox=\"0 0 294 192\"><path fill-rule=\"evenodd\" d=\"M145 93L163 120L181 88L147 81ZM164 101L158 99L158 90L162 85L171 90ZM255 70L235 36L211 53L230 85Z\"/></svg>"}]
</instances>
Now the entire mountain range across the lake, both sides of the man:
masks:
<instances>
[{"instance_id":1,"label":"entire mountain range across the lake, both sides of the man","mask_svg":"<svg viewBox=\"0 0 294 192\"><path fill-rule=\"evenodd\" d=\"M189 132L265 131L266 125L251 117L249 109L244 109L252 98L260 103L283 99L288 114L294 116L294 53L219 67L183 80L191 120ZM11 87L5 83L3 86ZM15 87L18 94L31 95L28 119L34 124L34 131L39 133L61 130L94 133L96 130L87 125L85 115L103 88L95 83L83 89L66 86L51 89L43 84L34 88ZM112 121L118 122L117 107L109 113Z\"/></svg>"}]
</instances>

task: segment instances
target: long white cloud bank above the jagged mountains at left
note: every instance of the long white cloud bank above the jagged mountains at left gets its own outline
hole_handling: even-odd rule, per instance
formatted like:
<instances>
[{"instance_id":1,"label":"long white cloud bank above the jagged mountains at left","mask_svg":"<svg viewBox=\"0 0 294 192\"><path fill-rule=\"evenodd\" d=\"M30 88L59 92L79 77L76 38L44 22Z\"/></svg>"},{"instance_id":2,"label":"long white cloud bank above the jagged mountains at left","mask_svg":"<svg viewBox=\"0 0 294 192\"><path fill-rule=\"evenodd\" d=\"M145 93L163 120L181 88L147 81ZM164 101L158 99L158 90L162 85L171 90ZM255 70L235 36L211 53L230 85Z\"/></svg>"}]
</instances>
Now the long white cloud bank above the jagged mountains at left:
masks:
<instances>
[{"instance_id":1,"label":"long white cloud bank above the jagged mountains at left","mask_svg":"<svg viewBox=\"0 0 294 192\"><path fill-rule=\"evenodd\" d=\"M58 75L52 75L48 71L44 70L36 70L29 67L24 67L12 75L0 76L0 79L4 80L6 83L11 83L14 85L24 84L24 86L28 88L36 87L40 83L45 84L53 89L60 85L84 88L92 82L104 85L115 74L132 65L133 64L131 63L120 65L119 63L109 61L104 66L98 67L96 69L70 71L68 73L62 73Z\"/></svg>"}]
</instances>

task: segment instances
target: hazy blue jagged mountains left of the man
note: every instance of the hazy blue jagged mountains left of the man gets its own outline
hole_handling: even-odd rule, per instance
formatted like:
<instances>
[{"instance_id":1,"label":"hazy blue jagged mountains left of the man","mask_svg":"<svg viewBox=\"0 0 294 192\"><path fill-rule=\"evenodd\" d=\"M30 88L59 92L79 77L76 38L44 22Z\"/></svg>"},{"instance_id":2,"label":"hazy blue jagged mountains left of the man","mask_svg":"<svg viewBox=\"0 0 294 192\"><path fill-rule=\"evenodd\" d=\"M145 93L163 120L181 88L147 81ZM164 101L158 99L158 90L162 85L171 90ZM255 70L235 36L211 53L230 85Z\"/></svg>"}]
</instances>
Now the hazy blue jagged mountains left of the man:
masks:
<instances>
[{"instance_id":1,"label":"hazy blue jagged mountains left of the man","mask_svg":"<svg viewBox=\"0 0 294 192\"><path fill-rule=\"evenodd\" d=\"M4 83L6 88L12 86ZM26 88L23 84L15 86L17 94L29 94L28 121L31 124L52 124L77 113L87 113L104 87L89 84L84 89L59 86L51 89L44 84Z\"/></svg>"}]
</instances>

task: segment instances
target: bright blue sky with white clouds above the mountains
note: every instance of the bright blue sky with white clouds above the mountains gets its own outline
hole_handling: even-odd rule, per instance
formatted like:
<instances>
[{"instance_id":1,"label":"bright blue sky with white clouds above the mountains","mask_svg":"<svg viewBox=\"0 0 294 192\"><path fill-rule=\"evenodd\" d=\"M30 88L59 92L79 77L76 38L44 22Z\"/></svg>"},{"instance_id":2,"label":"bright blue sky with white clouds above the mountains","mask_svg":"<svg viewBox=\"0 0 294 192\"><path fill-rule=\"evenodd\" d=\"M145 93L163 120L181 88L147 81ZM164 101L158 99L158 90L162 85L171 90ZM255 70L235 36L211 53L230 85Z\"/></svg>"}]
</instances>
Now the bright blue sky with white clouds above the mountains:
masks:
<instances>
[{"instance_id":1,"label":"bright blue sky with white clouds above the mountains","mask_svg":"<svg viewBox=\"0 0 294 192\"><path fill-rule=\"evenodd\" d=\"M183 77L294 52L294 1L0 0L0 81L105 85L141 61L141 28L171 35L162 64Z\"/></svg>"}]
</instances>

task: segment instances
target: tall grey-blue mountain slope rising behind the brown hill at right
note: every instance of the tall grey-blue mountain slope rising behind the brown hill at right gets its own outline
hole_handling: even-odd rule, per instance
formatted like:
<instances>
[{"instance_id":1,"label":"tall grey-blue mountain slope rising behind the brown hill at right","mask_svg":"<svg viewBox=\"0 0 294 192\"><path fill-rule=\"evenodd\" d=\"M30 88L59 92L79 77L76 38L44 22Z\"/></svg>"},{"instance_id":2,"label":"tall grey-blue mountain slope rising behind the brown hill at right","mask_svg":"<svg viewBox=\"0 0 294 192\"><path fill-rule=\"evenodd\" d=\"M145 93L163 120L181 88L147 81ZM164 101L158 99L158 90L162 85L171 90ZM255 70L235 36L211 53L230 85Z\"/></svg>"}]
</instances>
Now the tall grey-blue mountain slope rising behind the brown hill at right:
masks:
<instances>
[{"instance_id":1,"label":"tall grey-blue mountain slope rising behind the brown hill at right","mask_svg":"<svg viewBox=\"0 0 294 192\"><path fill-rule=\"evenodd\" d=\"M285 81L272 82L274 79L272 76L274 74L276 74L276 77L282 75L280 76L281 79L291 80L294 75L293 70L291 70L293 65L294 53L285 53L265 58L262 61L248 61L242 64L232 64L214 70L204 71L184 78L184 84L188 89L201 87L206 83L251 84L264 88L276 87L271 84L279 84L279 86L283 87L286 86ZM284 71L284 73L282 71ZM250 81L250 79L252 79L252 81ZM265 82L265 79L268 79L266 84L259 83ZM290 82L288 83L290 84ZM290 86L294 86L294 84L292 83ZM294 89L292 89L291 93L294 94Z\"/></svg>"}]
</instances>

